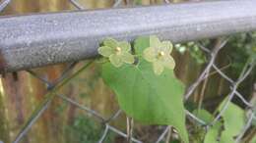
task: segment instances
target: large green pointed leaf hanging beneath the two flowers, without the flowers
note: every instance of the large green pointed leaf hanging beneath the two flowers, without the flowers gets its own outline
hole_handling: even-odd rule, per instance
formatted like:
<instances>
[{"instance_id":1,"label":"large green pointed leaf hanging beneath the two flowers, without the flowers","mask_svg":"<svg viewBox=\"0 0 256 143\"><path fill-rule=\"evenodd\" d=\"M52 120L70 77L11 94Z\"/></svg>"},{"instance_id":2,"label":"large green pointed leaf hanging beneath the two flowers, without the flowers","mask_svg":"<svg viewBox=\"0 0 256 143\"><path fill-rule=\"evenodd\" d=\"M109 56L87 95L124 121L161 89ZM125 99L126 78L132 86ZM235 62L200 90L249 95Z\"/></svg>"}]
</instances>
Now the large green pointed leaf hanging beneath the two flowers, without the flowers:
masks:
<instances>
[{"instance_id":1,"label":"large green pointed leaf hanging beneath the two flowers, without the flowers","mask_svg":"<svg viewBox=\"0 0 256 143\"><path fill-rule=\"evenodd\" d=\"M135 52L142 54L150 45L149 37L135 42ZM181 139L188 143L182 95L184 85L173 71L156 75L152 65L139 57L139 64L115 68L102 66L104 82L115 92L120 108L130 117L147 124L174 126Z\"/></svg>"}]
</instances>

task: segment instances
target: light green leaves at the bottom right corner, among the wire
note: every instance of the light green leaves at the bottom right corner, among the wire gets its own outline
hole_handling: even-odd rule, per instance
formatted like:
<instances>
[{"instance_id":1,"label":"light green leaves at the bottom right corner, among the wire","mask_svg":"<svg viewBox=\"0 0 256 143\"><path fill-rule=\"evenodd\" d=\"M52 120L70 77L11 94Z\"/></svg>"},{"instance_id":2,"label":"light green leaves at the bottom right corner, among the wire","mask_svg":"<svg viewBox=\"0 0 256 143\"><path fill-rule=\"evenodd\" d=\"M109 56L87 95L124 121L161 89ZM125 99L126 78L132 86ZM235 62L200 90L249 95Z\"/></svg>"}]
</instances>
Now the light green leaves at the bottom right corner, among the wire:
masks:
<instances>
[{"instance_id":1,"label":"light green leaves at the bottom right corner, among the wire","mask_svg":"<svg viewBox=\"0 0 256 143\"><path fill-rule=\"evenodd\" d=\"M224 100L218 107L218 113L223 110L225 104L226 100ZM206 110L195 110L193 114L197 118L204 120L207 124L212 123L213 119L215 118ZM230 102L221 119L210 126L207 131L201 130L202 132L205 132L205 137L203 138L204 141L197 140L196 142L232 143L234 142L234 137L242 131L245 122L245 111Z\"/></svg>"}]
</instances>

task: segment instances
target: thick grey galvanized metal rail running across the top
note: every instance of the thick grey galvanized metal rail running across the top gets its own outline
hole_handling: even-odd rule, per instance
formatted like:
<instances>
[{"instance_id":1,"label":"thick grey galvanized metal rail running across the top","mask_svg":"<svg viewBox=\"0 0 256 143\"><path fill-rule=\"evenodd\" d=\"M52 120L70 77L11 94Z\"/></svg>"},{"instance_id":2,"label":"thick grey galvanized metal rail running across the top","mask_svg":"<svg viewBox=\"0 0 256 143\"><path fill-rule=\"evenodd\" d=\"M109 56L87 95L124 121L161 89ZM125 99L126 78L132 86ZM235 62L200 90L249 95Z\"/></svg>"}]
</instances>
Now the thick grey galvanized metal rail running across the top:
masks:
<instances>
[{"instance_id":1,"label":"thick grey galvanized metal rail running across the top","mask_svg":"<svg viewBox=\"0 0 256 143\"><path fill-rule=\"evenodd\" d=\"M0 71L94 58L105 37L173 42L256 30L256 0L0 17Z\"/></svg>"}]
</instances>

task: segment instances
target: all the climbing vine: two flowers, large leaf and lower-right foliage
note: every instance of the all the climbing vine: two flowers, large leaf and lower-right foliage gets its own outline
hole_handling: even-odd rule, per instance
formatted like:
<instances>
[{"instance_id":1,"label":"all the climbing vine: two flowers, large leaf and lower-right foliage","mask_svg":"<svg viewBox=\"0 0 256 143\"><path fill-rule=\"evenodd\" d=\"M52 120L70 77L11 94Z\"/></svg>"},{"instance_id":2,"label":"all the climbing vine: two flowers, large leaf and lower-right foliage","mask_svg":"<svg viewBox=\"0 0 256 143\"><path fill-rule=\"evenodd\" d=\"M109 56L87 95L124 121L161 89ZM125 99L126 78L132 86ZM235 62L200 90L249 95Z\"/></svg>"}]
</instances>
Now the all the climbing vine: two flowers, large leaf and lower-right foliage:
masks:
<instances>
[{"instance_id":1,"label":"all the climbing vine: two flowers, large leaf and lower-right foliage","mask_svg":"<svg viewBox=\"0 0 256 143\"><path fill-rule=\"evenodd\" d=\"M147 124L171 125L181 140L188 143L183 104L185 86L174 75L175 61L170 55L173 48L180 53L189 51L198 64L206 62L204 53L194 42L173 47L170 41L160 41L157 36L138 37L131 43L106 38L98 48L104 61L101 76L128 117ZM239 106L230 102L222 118L211 124L226 106L225 100L214 114L202 108L193 111L205 124L194 124L199 133L190 137L192 142L235 141L246 123L246 112Z\"/></svg>"}]
</instances>

